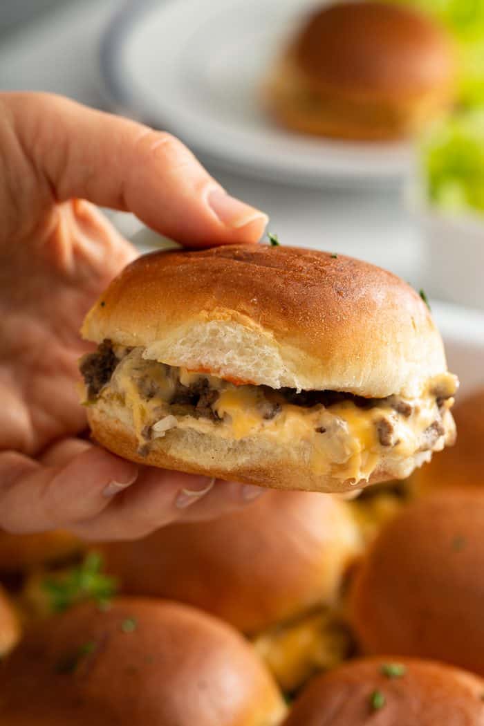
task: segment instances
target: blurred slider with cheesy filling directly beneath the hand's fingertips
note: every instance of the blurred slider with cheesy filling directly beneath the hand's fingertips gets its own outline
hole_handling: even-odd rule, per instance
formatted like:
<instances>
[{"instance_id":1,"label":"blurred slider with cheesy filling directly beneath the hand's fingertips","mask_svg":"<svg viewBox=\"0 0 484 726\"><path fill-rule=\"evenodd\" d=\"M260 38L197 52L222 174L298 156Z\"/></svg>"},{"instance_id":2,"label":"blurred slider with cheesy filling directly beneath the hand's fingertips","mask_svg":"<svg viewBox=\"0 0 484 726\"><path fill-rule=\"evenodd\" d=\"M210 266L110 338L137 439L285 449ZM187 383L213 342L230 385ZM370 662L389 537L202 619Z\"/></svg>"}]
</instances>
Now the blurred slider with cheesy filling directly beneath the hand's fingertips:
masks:
<instances>
[{"instance_id":1,"label":"blurred slider with cheesy filling directly beneath the hand's fingertips","mask_svg":"<svg viewBox=\"0 0 484 726\"><path fill-rule=\"evenodd\" d=\"M215 521L100 550L123 592L196 605L256 636L286 691L351 652L340 597L361 540L350 507L335 497L267 492Z\"/></svg>"}]
</instances>

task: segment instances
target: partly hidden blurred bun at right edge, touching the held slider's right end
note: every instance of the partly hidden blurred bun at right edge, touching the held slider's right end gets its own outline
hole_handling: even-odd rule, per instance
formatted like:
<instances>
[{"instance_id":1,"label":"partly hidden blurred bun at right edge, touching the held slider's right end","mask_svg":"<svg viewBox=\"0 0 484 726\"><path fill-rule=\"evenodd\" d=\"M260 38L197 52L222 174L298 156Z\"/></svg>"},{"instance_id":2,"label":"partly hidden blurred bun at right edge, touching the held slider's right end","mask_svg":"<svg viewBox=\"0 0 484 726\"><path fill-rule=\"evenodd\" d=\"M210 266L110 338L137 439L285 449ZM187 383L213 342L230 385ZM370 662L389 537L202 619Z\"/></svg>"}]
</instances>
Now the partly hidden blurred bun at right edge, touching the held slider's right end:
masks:
<instances>
[{"instance_id":1,"label":"partly hidden blurred bun at right edge, touching the held slider's right end","mask_svg":"<svg viewBox=\"0 0 484 726\"><path fill-rule=\"evenodd\" d=\"M484 486L484 389L458 400L452 409L457 443L418 470L412 484L418 494L447 486Z\"/></svg>"}]
</instances>

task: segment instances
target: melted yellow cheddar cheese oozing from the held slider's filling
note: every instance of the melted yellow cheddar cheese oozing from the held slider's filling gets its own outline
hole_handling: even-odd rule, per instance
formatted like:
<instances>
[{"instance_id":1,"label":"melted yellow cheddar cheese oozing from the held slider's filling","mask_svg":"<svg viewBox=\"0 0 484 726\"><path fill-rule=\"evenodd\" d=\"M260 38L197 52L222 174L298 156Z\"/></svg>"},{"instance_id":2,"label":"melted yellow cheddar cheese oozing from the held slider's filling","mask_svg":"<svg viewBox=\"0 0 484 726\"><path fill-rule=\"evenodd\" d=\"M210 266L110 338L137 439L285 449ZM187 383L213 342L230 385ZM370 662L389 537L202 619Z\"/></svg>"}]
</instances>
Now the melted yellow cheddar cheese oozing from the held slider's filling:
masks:
<instances>
[{"instance_id":1,"label":"melted yellow cheddar cheese oozing from the held slider's filling","mask_svg":"<svg viewBox=\"0 0 484 726\"><path fill-rule=\"evenodd\" d=\"M211 404L219 420L210 420L190 412L177 412L172 415L170 401L176 386L193 386L204 379L211 391L218 397ZM279 446L300 444L299 454L308 459L312 470L320 475L331 474L343 481L354 483L367 481L372 472L385 457L396 468L411 457L422 452L422 434L436 421L443 420L446 435L440 435L432 444L432 449L442 449L446 439L451 438L453 422L448 408L448 399L439 411L435 395L430 391L440 386L455 386L449 374L444 374L429 383L419 399L405 401L411 406L407 416L398 414L389 399L374 400L368 407L358 406L353 399L344 399L324 407L316 404L311 407L295 405L284 399L281 393L265 386L235 386L215 376L177 369L143 357L141 348L134 348L118 364L110 383L104 387L101 397L117 397L131 412L132 425L139 444L146 444L144 431L158 423L157 436L165 436L166 430L161 423L167 420L167 428L192 429L223 439L251 439L264 437ZM150 390L147 393L147 387ZM276 401L274 415L264 414L264 404ZM379 440L378 427L382 420L391 427L393 441L384 446ZM422 452L421 460L428 460L430 454ZM413 465L411 466L413 468ZM395 476L398 476L395 469ZM407 476L403 470L403 476Z\"/></svg>"}]
</instances>

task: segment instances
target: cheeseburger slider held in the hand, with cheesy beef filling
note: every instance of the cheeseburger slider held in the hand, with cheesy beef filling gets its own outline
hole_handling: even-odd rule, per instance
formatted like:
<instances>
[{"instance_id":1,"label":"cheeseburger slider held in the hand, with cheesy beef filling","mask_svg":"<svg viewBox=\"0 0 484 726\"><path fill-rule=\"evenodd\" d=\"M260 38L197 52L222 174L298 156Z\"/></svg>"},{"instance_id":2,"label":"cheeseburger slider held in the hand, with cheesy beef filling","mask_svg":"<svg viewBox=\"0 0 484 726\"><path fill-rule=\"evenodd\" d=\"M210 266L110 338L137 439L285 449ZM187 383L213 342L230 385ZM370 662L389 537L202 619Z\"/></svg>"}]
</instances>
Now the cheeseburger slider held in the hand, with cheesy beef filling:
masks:
<instances>
[{"instance_id":1,"label":"cheeseburger slider held in the hand, with cheesy beef filling","mask_svg":"<svg viewBox=\"0 0 484 726\"><path fill-rule=\"evenodd\" d=\"M300 248L138 258L91 309L94 437L122 457L279 489L405 478L454 441L456 378L424 301Z\"/></svg>"}]
</instances>

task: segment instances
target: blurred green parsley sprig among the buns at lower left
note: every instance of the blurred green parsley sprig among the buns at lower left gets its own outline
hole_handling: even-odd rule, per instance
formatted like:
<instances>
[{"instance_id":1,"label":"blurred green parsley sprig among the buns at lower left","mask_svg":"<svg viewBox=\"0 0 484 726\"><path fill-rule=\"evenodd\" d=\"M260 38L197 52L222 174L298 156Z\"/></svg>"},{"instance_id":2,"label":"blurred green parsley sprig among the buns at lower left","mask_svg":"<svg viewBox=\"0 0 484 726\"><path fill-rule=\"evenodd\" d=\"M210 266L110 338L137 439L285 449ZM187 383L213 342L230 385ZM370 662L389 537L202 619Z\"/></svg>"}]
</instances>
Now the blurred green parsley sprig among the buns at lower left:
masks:
<instances>
[{"instance_id":1,"label":"blurred green parsley sprig among the buns at lower left","mask_svg":"<svg viewBox=\"0 0 484 726\"><path fill-rule=\"evenodd\" d=\"M106 607L118 590L118 581L102 572L102 557L90 552L79 565L44 579L42 589L51 611L62 613L86 600Z\"/></svg>"}]
</instances>

